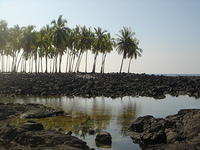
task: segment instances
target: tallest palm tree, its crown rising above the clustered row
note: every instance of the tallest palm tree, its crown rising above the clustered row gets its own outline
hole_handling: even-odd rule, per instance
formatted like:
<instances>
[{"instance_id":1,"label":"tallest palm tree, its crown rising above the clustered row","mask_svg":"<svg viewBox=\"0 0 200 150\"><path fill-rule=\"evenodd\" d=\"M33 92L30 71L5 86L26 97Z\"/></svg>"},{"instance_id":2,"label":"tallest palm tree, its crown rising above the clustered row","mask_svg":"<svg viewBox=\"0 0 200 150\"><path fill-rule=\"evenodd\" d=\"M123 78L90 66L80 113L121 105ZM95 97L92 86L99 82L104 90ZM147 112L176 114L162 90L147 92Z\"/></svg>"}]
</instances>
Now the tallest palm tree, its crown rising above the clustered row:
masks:
<instances>
[{"instance_id":1,"label":"tallest palm tree, its crown rising above the clustered row","mask_svg":"<svg viewBox=\"0 0 200 150\"><path fill-rule=\"evenodd\" d=\"M58 17L58 20L53 20L51 24L53 25L52 29L52 42L54 47L57 50L57 55L56 55L56 72L57 72L57 57L58 55L60 56L59 60L59 72L61 72L61 63L62 63L62 56L64 54L64 51L66 49L66 42L67 42L67 32L68 28L65 26L67 23L67 20L62 19L62 15Z\"/></svg>"}]
</instances>

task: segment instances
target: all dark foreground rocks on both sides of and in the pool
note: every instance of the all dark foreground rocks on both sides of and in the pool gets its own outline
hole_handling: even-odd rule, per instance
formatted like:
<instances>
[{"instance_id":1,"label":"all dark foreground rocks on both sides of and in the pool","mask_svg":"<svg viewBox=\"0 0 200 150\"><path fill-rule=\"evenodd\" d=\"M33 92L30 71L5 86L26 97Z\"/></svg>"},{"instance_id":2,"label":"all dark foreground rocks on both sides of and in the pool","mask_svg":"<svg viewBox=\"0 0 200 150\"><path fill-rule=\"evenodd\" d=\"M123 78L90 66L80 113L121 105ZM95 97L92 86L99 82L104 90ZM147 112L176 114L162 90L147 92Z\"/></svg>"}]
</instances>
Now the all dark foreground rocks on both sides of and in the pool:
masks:
<instances>
[{"instance_id":1,"label":"all dark foreground rocks on both sides of and in the pool","mask_svg":"<svg viewBox=\"0 0 200 150\"><path fill-rule=\"evenodd\" d=\"M41 104L0 103L0 149L67 149L92 150L87 143L71 136L72 132L49 130L35 118L66 115ZM6 122L12 118L26 118L19 125ZM30 120L32 119L32 120ZM91 130L91 134L95 131ZM144 150L198 150L200 147L200 109L183 109L166 118L154 118L147 115L137 118L129 128L134 143ZM112 137L108 132L99 132L96 145L111 146Z\"/></svg>"}]
</instances>

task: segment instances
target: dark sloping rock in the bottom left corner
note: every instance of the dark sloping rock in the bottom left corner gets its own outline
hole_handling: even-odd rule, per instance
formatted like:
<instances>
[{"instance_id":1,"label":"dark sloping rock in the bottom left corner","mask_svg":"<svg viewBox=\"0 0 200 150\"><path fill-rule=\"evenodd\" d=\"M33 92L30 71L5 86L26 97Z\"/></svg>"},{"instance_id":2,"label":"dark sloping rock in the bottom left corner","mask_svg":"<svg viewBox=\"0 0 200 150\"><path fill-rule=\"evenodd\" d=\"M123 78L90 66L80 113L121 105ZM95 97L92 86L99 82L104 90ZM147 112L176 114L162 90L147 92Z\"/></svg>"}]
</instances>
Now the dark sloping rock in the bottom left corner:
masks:
<instances>
[{"instance_id":1,"label":"dark sloping rock in the bottom left corner","mask_svg":"<svg viewBox=\"0 0 200 150\"><path fill-rule=\"evenodd\" d=\"M89 150L80 139L52 130L40 128L38 123L25 123L21 128L4 126L0 128L0 148L6 150Z\"/></svg>"}]
</instances>

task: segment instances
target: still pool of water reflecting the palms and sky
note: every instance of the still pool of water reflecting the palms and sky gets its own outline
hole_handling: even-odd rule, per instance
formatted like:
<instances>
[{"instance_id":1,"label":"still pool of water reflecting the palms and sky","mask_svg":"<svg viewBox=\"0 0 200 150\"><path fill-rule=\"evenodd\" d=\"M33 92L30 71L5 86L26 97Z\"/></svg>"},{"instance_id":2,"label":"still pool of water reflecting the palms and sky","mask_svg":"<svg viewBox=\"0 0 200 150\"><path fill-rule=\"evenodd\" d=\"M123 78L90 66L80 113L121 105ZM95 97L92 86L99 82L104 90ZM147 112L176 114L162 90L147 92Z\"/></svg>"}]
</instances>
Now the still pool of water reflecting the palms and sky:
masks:
<instances>
[{"instance_id":1,"label":"still pool of water reflecting the palms and sky","mask_svg":"<svg viewBox=\"0 0 200 150\"><path fill-rule=\"evenodd\" d=\"M166 117L175 114L180 109L200 108L200 99L188 96L172 97L155 100L149 97L123 97L117 99L97 98L0 98L4 103L39 103L53 108L62 109L66 116L38 119L46 128L72 131L73 134L97 150L137 150L128 136L127 129L131 122L139 116L153 115ZM19 120L18 120L19 121ZM16 122L16 121L15 121ZM107 131L112 135L112 147L99 148L95 144L95 135L89 130Z\"/></svg>"}]
</instances>

